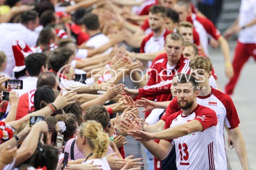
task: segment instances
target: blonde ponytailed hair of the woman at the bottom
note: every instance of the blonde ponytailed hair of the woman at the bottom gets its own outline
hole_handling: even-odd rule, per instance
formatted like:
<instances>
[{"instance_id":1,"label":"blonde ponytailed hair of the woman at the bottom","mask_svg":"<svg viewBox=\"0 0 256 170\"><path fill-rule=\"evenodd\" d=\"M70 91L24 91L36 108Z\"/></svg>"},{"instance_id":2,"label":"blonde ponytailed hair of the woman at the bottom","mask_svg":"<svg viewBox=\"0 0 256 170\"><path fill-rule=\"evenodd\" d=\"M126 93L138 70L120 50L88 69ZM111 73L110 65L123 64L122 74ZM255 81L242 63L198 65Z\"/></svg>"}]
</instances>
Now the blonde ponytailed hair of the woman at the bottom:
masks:
<instances>
[{"instance_id":1,"label":"blonde ponytailed hair of the woman at the bottom","mask_svg":"<svg viewBox=\"0 0 256 170\"><path fill-rule=\"evenodd\" d=\"M85 137L92 148L92 154L97 158L102 158L109 145L109 136L103 132L100 123L96 121L86 121L80 125L79 135Z\"/></svg>"}]
</instances>

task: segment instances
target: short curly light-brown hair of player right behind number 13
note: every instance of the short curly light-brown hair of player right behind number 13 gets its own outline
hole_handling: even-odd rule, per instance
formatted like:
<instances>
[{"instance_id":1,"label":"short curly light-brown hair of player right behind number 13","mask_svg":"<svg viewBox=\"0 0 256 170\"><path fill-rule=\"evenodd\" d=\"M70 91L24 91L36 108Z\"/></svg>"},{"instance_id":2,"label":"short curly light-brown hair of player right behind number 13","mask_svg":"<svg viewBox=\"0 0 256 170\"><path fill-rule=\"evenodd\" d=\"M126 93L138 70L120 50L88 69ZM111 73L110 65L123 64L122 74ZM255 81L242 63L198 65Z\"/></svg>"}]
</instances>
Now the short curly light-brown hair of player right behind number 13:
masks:
<instances>
[{"instance_id":1,"label":"short curly light-brown hair of player right behind number 13","mask_svg":"<svg viewBox=\"0 0 256 170\"><path fill-rule=\"evenodd\" d=\"M203 69L208 73L212 71L212 62L209 57L204 57L202 55L196 55L189 64L190 69Z\"/></svg>"}]
</instances>

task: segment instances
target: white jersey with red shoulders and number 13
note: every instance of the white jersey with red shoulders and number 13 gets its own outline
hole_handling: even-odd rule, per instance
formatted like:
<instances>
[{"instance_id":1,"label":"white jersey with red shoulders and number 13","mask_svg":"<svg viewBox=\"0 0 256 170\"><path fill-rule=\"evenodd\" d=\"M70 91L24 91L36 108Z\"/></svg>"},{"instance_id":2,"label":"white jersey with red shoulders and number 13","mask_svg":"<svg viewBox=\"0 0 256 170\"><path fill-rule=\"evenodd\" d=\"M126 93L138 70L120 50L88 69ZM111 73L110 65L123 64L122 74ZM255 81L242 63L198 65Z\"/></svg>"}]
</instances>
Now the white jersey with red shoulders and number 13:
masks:
<instances>
[{"instance_id":1,"label":"white jersey with red shoulders and number 13","mask_svg":"<svg viewBox=\"0 0 256 170\"><path fill-rule=\"evenodd\" d=\"M203 126L202 132L193 132L183 137L166 140L175 144L177 169L218 169L217 126L215 112L197 105L189 115L182 110L167 118L164 129L197 120Z\"/></svg>"}]
</instances>

